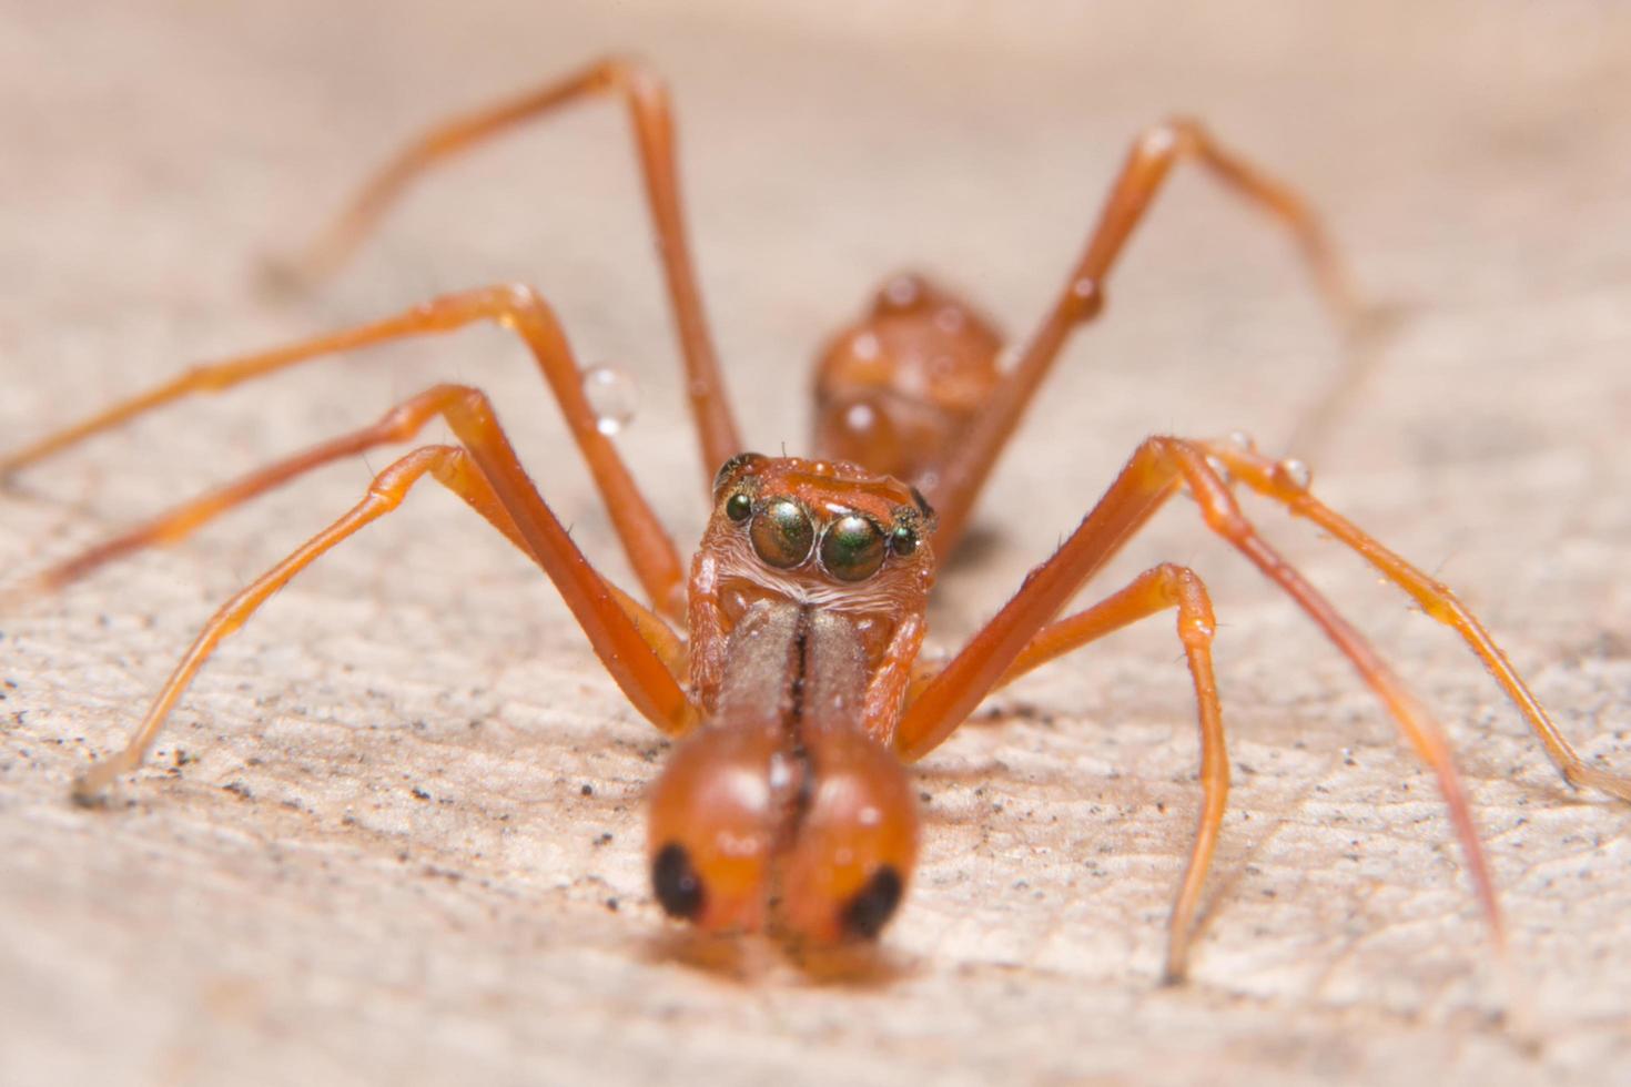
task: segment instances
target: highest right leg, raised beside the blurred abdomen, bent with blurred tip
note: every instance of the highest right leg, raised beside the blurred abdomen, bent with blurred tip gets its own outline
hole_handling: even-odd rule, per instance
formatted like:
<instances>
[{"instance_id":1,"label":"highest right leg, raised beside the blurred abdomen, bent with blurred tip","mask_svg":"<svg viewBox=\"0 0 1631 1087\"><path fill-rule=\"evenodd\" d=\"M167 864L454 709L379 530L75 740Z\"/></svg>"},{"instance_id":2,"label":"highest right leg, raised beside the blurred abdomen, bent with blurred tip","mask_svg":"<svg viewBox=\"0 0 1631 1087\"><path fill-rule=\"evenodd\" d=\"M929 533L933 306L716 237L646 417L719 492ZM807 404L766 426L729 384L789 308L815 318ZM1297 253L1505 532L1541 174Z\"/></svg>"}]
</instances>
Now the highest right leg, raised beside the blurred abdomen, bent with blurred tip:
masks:
<instances>
[{"instance_id":1,"label":"highest right leg, raised beside the blurred abdomen, bent with blurred tip","mask_svg":"<svg viewBox=\"0 0 1631 1087\"><path fill-rule=\"evenodd\" d=\"M951 554L987 476L1013 437L1019 419L1047 378L1070 332L1091 321L1104 306L1104 285L1134 228L1179 161L1197 161L1230 191L1262 209L1292 231L1310 275L1326 306L1344 328L1359 324L1359 305L1347 271L1337 259L1319 218L1290 186L1218 145L1196 121L1174 119L1140 135L1120 176L1099 212L1088 248L1065 279L1018 362L974 419L954 456L941 469L939 486L928 495L939 515L935 551Z\"/></svg>"}]
</instances>

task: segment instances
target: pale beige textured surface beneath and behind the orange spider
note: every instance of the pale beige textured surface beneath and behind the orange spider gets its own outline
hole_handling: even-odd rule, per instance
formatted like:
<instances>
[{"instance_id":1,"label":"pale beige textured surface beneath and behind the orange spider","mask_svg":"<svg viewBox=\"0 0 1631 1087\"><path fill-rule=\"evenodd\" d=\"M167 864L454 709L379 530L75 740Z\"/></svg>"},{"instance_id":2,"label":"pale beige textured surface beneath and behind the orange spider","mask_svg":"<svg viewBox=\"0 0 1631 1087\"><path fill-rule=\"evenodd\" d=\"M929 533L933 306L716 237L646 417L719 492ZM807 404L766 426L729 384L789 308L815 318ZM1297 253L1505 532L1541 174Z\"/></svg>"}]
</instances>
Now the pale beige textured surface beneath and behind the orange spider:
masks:
<instances>
[{"instance_id":1,"label":"pale beige textured surface beneath and behind the orange spider","mask_svg":"<svg viewBox=\"0 0 1631 1087\"><path fill-rule=\"evenodd\" d=\"M1321 435L1318 486L1461 588L1582 751L1631 771L1624 10L925 7L10 0L0 443L197 359L524 279L586 359L638 376L623 448L690 544L701 469L613 108L449 169L315 300L259 298L254 259L416 124L641 51L677 88L745 429L798 450L807 360L871 284L941 271L1019 334L1132 134L1196 112L1313 194L1403 315ZM1337 360L1284 241L1178 178L1003 463L933 637L998 606L1138 437L1277 447ZM623 575L522 352L471 331L29 473L0 492L5 580L447 378L493 393ZM1014 686L925 763L923 867L874 976L820 983L754 942L706 966L646 883L664 745L550 587L440 494L281 593L113 810L72 808L70 776L122 742L215 603L385 460L0 611L0 1082L1489 1087L1631 1066L1631 812L1571 795L1448 632L1267 508L1447 722L1538 1046L1501 1022L1512 996L1432 781L1186 504L1103 585L1189 562L1223 623L1236 789L1178 989L1156 978L1196 740L1165 619Z\"/></svg>"}]
</instances>

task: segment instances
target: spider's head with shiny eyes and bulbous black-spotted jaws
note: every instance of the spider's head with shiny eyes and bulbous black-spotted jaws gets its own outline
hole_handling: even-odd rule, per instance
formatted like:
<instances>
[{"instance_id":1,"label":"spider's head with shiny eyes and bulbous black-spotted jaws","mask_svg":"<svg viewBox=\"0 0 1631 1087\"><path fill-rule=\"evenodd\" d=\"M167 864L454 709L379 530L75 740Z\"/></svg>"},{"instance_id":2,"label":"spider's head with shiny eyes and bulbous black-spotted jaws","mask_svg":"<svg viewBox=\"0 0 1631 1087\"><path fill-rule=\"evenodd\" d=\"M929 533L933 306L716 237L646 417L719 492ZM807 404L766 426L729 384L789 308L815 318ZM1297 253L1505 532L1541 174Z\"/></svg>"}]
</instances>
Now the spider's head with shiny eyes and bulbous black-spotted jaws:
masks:
<instances>
[{"instance_id":1,"label":"spider's head with shiny eyes and bulbous black-spotted jaws","mask_svg":"<svg viewBox=\"0 0 1631 1087\"><path fill-rule=\"evenodd\" d=\"M873 937L917 856L891 728L923 637L933 515L846 463L732 458L692 566L706 714L651 812L657 900L706 929Z\"/></svg>"}]
</instances>

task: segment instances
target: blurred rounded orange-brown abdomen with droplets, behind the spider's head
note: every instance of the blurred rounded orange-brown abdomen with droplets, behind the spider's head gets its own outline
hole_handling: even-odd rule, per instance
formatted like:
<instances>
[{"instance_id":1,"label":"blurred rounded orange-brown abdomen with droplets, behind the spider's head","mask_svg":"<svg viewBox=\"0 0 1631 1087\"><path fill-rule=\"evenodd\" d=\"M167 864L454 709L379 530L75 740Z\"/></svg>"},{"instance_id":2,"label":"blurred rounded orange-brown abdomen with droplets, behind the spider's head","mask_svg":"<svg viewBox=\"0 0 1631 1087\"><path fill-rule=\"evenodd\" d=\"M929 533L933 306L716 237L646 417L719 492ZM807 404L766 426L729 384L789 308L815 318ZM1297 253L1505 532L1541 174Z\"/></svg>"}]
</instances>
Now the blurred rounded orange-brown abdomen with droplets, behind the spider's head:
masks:
<instances>
[{"instance_id":1,"label":"blurred rounded orange-brown abdomen with droplets, behind the spider's head","mask_svg":"<svg viewBox=\"0 0 1631 1087\"><path fill-rule=\"evenodd\" d=\"M816 450L930 487L1000 375L1001 336L920 275L895 275L816 367Z\"/></svg>"}]
</instances>

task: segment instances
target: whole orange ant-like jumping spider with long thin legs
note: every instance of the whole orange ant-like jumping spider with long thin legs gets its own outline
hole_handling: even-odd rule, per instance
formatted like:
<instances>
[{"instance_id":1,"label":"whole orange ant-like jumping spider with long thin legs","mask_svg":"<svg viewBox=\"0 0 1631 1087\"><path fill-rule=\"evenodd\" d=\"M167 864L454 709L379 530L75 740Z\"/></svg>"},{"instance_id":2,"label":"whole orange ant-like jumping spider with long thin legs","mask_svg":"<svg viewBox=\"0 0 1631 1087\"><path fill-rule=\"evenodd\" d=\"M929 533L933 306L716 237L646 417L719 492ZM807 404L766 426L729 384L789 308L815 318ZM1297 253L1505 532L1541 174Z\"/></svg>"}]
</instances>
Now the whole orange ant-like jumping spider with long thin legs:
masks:
<instances>
[{"instance_id":1,"label":"whole orange ant-like jumping spider with long thin legs","mask_svg":"<svg viewBox=\"0 0 1631 1087\"><path fill-rule=\"evenodd\" d=\"M80 802L95 803L117 776L140 766L176 699L223 637L329 548L395 510L427 476L550 577L633 707L677 742L651 797L651 877L662 909L703 931L768 931L789 947L877 937L905 893L918 851L917 800L905 766L953 737L982 699L1016 676L1127 624L1174 611L1197 704L1202 794L1168 921L1165 976L1182 978L1230 782L1212 668L1212 603L1192 570L1160 564L1067 614L1078 590L1176 494L1191 495L1204 525L1288 593L1334 642L1437 776L1497 948L1505 937L1496 888L1439 724L1370 644L1264 541L1238 505L1236 487L1311 520L1453 627L1518 706L1571 786L1631 800L1631 781L1574 753L1450 588L1316 499L1300 461L1267 458L1240 437L1142 442L1076 530L995 618L943 665L920 657L939 559L962 538L992 464L1068 336L1099 315L1106 279L1176 163L1199 163L1282 223L1333 311L1349 321L1357 313L1347 275L1303 199L1192 121L1155 125L1134 142L1085 253L1011 365L1000 363L1001 337L974 308L918 275L889 280L819 362L812 458L744 451L683 228L669 95L638 62L602 60L431 129L375 174L285 271L307 280L333 271L422 171L595 95L620 96L633 119L701 458L718 466L708 487L711 517L690 569L599 425L555 313L527 287L445 295L370 324L197 367L0 458L0 473L192 393L346 350L494 321L514 331L537 360L605 499L644 600L602 577L572 543L522 469L488 398L470 386L439 385L372 427L175 507L39 579L44 588L60 587L113 557L179 539L313 468L406 442L432 419L444 419L457 437L457 445L414 448L380 471L352 510L227 601L127 746L75 782Z\"/></svg>"}]
</instances>

